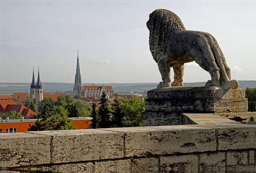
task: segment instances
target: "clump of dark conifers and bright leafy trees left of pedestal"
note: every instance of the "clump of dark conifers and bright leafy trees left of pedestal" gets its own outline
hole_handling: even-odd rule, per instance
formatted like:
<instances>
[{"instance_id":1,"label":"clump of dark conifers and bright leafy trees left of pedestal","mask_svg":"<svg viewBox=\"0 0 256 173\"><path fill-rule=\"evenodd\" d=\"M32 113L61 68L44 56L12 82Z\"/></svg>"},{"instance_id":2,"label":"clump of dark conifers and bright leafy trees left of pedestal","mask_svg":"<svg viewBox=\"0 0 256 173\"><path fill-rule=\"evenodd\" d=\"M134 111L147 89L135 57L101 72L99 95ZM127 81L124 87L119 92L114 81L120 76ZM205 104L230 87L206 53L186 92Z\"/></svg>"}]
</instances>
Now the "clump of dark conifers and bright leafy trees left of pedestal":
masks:
<instances>
[{"instance_id":1,"label":"clump of dark conifers and bright leafy trees left of pedestal","mask_svg":"<svg viewBox=\"0 0 256 173\"><path fill-rule=\"evenodd\" d=\"M103 91L100 99L100 108L96 109L96 103L92 103L92 124L90 128L111 128L111 127L138 127L142 126L141 112L145 111L145 98L140 100L133 97L122 102L116 99L108 103L106 94Z\"/></svg>"}]
</instances>

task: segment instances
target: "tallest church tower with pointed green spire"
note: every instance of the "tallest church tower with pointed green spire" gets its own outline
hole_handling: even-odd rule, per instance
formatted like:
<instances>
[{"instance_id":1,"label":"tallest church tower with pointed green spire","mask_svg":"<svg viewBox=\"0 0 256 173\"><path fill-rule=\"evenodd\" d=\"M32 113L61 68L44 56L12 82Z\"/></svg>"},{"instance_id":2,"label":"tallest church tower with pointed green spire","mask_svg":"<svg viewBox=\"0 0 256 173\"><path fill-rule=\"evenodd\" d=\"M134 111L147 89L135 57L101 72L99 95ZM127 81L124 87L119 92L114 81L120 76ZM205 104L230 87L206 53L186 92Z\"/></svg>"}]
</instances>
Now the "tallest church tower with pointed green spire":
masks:
<instances>
[{"instance_id":1,"label":"tallest church tower with pointed green spire","mask_svg":"<svg viewBox=\"0 0 256 173\"><path fill-rule=\"evenodd\" d=\"M73 96L76 95L84 95L84 87L82 83L81 73L80 73L80 66L79 66L79 58L78 58L78 50L77 50L77 62L76 62L76 74L75 74L75 85L73 87Z\"/></svg>"}]
</instances>

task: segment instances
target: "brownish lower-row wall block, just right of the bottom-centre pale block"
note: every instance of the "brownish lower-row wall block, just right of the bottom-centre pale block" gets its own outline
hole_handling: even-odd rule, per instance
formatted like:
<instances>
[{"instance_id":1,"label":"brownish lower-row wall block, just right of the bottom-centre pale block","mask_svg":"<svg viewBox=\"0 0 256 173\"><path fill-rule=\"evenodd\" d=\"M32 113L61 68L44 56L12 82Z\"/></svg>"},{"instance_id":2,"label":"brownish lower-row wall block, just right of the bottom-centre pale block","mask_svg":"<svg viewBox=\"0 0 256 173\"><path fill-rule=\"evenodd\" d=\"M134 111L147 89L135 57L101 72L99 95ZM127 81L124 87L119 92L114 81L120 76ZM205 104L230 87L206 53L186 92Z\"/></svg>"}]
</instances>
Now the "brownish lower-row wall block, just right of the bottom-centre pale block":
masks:
<instances>
[{"instance_id":1,"label":"brownish lower-row wall block, just right of the bottom-centre pale block","mask_svg":"<svg viewBox=\"0 0 256 173\"><path fill-rule=\"evenodd\" d=\"M158 173L158 158L132 159L132 173Z\"/></svg>"}]
</instances>

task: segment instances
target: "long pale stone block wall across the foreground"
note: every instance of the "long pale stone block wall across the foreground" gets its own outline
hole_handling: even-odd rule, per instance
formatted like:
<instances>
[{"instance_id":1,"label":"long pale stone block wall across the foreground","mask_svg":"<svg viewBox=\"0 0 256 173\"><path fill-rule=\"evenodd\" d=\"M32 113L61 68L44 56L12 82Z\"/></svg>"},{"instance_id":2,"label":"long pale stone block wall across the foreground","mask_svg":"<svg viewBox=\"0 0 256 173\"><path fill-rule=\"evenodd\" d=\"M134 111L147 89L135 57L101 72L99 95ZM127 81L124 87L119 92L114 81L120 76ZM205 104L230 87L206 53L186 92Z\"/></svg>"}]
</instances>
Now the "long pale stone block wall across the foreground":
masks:
<instances>
[{"instance_id":1,"label":"long pale stone block wall across the foreground","mask_svg":"<svg viewBox=\"0 0 256 173\"><path fill-rule=\"evenodd\" d=\"M184 116L196 124L1 134L0 167L17 172L255 172L256 125L232 124L221 116L222 123L207 124L207 115L200 120Z\"/></svg>"}]
</instances>

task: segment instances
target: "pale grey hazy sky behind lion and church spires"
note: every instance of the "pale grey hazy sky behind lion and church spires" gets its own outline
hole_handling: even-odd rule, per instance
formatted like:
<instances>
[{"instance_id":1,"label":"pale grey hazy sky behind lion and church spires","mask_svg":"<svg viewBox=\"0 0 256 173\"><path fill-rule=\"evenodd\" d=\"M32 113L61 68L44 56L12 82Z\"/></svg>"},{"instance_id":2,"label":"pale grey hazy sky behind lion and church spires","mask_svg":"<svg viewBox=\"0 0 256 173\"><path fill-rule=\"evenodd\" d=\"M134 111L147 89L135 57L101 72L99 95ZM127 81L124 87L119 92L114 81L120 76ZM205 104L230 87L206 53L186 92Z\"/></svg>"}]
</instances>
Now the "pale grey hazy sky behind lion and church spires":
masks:
<instances>
[{"instance_id":1,"label":"pale grey hazy sky behind lion and church spires","mask_svg":"<svg viewBox=\"0 0 256 173\"><path fill-rule=\"evenodd\" d=\"M232 79L256 80L255 0L0 0L0 82L30 82L39 66L43 82L73 83L77 49L84 83L160 82L146 26L159 8L212 34ZM210 79L185 64L184 82Z\"/></svg>"}]
</instances>

